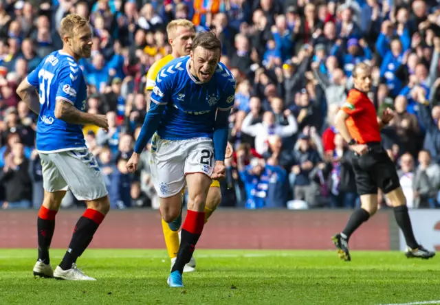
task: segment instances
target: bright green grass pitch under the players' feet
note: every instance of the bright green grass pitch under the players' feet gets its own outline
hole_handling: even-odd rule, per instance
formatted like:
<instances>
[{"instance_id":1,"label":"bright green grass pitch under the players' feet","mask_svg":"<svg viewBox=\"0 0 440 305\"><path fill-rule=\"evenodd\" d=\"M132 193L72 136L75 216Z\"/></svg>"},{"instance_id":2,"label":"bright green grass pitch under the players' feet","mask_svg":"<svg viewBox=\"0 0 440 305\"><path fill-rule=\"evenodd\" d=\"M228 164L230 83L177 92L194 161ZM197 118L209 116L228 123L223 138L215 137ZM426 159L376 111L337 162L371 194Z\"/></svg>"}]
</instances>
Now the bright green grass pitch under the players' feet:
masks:
<instances>
[{"instance_id":1,"label":"bright green grass pitch under the players' feet","mask_svg":"<svg viewBox=\"0 0 440 305\"><path fill-rule=\"evenodd\" d=\"M63 257L52 249L52 267ZM89 249L96 282L33 278L34 249L0 249L0 304L390 304L440 300L440 260L399 252L197 250L184 289L166 284L162 250ZM440 302L439 302L440 304Z\"/></svg>"}]
</instances>

